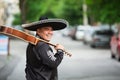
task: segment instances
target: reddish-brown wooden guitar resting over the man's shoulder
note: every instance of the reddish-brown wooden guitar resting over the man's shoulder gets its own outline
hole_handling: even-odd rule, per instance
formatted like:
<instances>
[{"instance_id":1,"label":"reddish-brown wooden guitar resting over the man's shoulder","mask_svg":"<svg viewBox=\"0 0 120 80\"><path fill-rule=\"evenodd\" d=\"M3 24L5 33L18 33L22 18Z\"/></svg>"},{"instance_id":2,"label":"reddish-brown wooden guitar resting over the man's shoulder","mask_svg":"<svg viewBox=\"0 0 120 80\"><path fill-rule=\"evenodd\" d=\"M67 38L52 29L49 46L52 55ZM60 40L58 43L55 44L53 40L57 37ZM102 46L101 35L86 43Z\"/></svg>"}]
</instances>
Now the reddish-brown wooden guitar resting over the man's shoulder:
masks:
<instances>
[{"instance_id":1,"label":"reddish-brown wooden guitar resting over the man's shoulder","mask_svg":"<svg viewBox=\"0 0 120 80\"><path fill-rule=\"evenodd\" d=\"M14 28L11 28L11 27L6 27L6 26L0 26L0 34L4 34L4 35L7 35L7 36L13 36L13 37L16 37L18 39L22 39L26 42L29 42L33 45L36 45L38 42L42 41L42 42L45 42L51 46L56 46L48 41L45 41L43 39L40 39L40 38L36 38L35 36L33 35L30 35L28 33L25 33L23 31L20 31L20 30L16 30ZM66 52L65 50L63 50L64 53L68 56L72 56L72 54Z\"/></svg>"}]
</instances>

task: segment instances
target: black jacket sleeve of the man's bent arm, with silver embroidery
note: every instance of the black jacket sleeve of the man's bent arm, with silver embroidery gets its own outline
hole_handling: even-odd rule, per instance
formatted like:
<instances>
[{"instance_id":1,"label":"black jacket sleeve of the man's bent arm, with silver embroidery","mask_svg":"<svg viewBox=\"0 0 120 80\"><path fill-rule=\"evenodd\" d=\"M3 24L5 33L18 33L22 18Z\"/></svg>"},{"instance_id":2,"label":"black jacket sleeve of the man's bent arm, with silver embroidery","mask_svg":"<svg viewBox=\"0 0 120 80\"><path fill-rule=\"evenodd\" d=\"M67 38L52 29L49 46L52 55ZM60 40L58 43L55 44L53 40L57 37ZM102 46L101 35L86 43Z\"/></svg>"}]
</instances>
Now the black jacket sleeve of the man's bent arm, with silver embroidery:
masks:
<instances>
[{"instance_id":1,"label":"black jacket sleeve of the man's bent arm, with silver embroidery","mask_svg":"<svg viewBox=\"0 0 120 80\"><path fill-rule=\"evenodd\" d=\"M57 51L54 55L49 45L44 42L39 42L36 46L36 50L40 55L43 64L51 68L57 68L63 59L63 52Z\"/></svg>"}]
</instances>

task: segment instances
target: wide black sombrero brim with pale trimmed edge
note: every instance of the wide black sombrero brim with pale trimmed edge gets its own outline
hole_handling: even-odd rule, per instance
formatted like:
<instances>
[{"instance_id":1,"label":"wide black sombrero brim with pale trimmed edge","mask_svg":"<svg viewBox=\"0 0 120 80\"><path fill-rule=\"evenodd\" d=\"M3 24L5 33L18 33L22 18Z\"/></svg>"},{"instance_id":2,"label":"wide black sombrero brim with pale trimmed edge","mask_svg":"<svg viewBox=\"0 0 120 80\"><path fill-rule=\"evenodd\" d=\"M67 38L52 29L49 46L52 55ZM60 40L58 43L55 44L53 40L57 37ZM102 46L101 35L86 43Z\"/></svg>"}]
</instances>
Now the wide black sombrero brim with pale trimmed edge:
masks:
<instances>
[{"instance_id":1,"label":"wide black sombrero brim with pale trimmed edge","mask_svg":"<svg viewBox=\"0 0 120 80\"><path fill-rule=\"evenodd\" d=\"M38 28L46 26L51 26L53 30L61 30L68 26L68 22L63 19L46 19L22 25L23 28L31 31L36 31Z\"/></svg>"}]
</instances>

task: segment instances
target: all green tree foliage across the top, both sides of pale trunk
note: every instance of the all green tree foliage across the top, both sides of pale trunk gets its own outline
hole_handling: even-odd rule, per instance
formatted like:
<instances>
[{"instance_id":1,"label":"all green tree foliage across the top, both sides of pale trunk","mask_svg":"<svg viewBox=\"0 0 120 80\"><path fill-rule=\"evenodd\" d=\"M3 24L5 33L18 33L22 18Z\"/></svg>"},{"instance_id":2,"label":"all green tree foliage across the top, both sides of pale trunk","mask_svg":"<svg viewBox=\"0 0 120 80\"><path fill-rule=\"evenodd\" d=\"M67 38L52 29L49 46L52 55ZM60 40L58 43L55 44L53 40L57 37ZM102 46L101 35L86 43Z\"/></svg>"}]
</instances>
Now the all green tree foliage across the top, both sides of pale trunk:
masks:
<instances>
[{"instance_id":1,"label":"all green tree foliage across the top, both sides of pale trunk","mask_svg":"<svg viewBox=\"0 0 120 80\"><path fill-rule=\"evenodd\" d=\"M119 0L84 0L90 23L120 22ZM20 0L21 22L37 21L40 16L63 18L70 25L83 23L83 0ZM17 20L18 21L18 20Z\"/></svg>"}]
</instances>

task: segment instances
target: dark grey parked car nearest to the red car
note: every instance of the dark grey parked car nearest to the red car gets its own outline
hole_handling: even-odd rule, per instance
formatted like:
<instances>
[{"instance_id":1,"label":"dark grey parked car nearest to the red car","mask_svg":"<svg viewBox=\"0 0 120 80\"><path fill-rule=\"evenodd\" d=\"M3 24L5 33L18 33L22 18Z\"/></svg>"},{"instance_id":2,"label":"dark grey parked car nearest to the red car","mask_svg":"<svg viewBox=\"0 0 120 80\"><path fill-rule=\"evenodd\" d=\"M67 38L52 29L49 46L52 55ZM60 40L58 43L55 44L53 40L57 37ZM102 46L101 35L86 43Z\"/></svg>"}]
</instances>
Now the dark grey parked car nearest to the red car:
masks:
<instances>
[{"instance_id":1,"label":"dark grey parked car nearest to the red car","mask_svg":"<svg viewBox=\"0 0 120 80\"><path fill-rule=\"evenodd\" d=\"M110 47L110 39L113 31L109 29L96 29L92 34L92 42L90 46L95 47Z\"/></svg>"}]
</instances>

